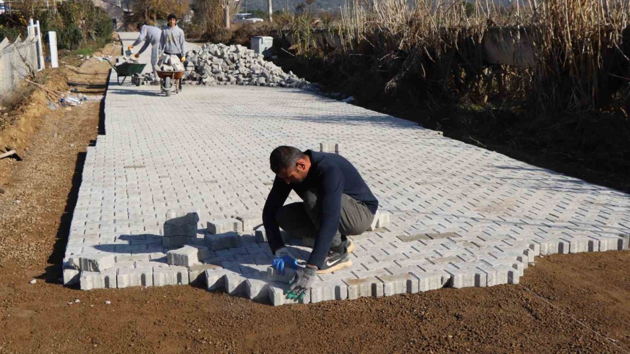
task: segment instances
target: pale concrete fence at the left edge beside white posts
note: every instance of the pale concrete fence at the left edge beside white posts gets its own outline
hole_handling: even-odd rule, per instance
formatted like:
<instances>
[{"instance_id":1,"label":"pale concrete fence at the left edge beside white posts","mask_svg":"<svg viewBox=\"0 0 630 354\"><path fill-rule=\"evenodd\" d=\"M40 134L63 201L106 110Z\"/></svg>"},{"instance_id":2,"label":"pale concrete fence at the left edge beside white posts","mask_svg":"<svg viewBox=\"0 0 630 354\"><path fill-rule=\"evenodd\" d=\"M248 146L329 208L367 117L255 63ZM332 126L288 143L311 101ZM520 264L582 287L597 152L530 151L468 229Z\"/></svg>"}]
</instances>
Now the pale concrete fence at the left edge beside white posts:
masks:
<instances>
[{"instance_id":1,"label":"pale concrete fence at the left edge beside white posts","mask_svg":"<svg viewBox=\"0 0 630 354\"><path fill-rule=\"evenodd\" d=\"M0 97L28 75L28 66L37 70L37 39L18 37L11 43L7 38L0 43Z\"/></svg>"}]
</instances>

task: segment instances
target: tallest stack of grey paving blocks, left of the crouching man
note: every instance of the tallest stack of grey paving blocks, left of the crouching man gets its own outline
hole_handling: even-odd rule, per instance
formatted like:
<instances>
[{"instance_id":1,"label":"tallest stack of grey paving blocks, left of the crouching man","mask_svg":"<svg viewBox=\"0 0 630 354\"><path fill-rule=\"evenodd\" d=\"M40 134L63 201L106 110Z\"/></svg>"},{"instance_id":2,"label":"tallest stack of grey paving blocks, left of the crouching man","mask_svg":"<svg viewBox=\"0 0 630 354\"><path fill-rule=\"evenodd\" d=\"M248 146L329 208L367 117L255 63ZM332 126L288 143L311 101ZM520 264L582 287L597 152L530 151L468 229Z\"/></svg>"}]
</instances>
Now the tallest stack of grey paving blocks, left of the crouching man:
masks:
<instances>
[{"instance_id":1,"label":"tallest stack of grey paving blocks, left of the crouching man","mask_svg":"<svg viewBox=\"0 0 630 354\"><path fill-rule=\"evenodd\" d=\"M186 244L195 243L197 238L197 210L168 210L164 222L164 248L180 248Z\"/></svg>"}]
</instances>

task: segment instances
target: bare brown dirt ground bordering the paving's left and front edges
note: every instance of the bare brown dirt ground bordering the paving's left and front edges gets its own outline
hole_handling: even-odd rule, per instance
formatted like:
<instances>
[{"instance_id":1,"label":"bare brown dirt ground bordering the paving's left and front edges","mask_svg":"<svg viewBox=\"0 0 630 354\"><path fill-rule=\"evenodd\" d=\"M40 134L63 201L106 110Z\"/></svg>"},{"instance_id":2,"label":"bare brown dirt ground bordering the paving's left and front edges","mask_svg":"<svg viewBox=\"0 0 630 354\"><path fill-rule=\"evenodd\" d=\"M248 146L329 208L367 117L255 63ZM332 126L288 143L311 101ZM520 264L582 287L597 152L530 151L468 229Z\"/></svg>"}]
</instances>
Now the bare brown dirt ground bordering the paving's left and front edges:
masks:
<instances>
[{"instance_id":1,"label":"bare brown dirt ground bordering the paving's left and front edges","mask_svg":"<svg viewBox=\"0 0 630 354\"><path fill-rule=\"evenodd\" d=\"M630 352L627 251L537 258L521 285L281 307L192 286L63 287L99 113L49 113L23 161L0 160L0 353Z\"/></svg>"}]
</instances>

